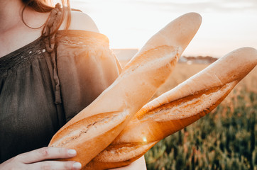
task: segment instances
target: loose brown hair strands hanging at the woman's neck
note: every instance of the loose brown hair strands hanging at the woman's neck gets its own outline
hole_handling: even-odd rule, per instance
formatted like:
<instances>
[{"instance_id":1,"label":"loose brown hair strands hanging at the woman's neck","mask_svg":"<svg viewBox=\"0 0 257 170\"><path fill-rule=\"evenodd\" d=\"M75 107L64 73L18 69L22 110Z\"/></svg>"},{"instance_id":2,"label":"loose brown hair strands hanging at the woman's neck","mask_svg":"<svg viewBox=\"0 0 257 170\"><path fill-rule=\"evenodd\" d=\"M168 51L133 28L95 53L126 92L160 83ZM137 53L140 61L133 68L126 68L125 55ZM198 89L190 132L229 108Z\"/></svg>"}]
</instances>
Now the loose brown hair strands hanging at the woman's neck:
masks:
<instances>
[{"instance_id":1,"label":"loose brown hair strands hanging at the woman's neck","mask_svg":"<svg viewBox=\"0 0 257 170\"><path fill-rule=\"evenodd\" d=\"M65 26L65 30L67 30L70 26L70 0L60 0L62 2L62 21L64 20L65 16L67 16L67 23ZM53 6L53 0L22 0L23 4L25 5L23 8L23 11L25 10L25 8L27 6L30 6L31 8L33 8L35 11L38 11L40 13L46 13L46 12L50 12L53 10L53 8L55 8ZM21 13L21 19L23 21L23 23L28 26L24 19L23 19L23 11ZM49 18L48 18L49 20ZM45 21L45 23L48 22ZM58 27L55 28L55 30L53 30L53 33L56 33L56 31L58 31L62 21L59 23ZM45 24L43 24L43 26L45 27ZM29 28L31 28L30 26L28 26ZM41 28L42 26L40 26L39 28ZM38 28L33 28L33 29L38 29ZM45 29L43 29L45 30ZM51 35L53 34L51 33ZM43 33L42 33L43 35Z\"/></svg>"}]
</instances>

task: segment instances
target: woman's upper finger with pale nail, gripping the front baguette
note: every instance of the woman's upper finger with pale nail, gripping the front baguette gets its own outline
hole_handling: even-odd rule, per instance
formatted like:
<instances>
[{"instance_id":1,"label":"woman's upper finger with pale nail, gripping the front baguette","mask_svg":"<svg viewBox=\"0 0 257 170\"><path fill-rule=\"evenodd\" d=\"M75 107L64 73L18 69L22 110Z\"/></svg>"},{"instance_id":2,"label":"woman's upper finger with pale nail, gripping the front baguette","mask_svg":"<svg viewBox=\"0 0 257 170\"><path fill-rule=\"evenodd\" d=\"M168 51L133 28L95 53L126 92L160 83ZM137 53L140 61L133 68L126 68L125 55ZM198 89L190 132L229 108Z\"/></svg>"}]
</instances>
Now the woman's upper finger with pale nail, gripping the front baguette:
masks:
<instances>
[{"instance_id":1,"label":"woman's upper finger with pale nail, gripping the front baguette","mask_svg":"<svg viewBox=\"0 0 257 170\"><path fill-rule=\"evenodd\" d=\"M77 152L74 149L58 148L58 147L42 147L31 152L19 154L16 159L19 159L24 164L31 164L47 159L67 159L75 157Z\"/></svg>"}]
</instances>

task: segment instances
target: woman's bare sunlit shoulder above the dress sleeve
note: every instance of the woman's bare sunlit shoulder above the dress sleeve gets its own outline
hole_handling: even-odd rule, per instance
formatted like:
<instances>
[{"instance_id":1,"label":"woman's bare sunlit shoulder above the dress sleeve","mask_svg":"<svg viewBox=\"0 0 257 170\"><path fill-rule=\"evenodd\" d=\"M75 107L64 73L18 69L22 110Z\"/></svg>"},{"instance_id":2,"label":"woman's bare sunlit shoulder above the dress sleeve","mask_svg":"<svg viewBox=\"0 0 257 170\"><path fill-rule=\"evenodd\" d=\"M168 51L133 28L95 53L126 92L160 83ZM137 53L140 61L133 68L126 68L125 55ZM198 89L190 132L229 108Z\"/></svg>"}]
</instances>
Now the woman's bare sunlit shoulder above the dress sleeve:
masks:
<instances>
[{"instance_id":1,"label":"woman's bare sunlit shoulder above the dress sleeve","mask_svg":"<svg viewBox=\"0 0 257 170\"><path fill-rule=\"evenodd\" d=\"M70 13L71 21L69 30L87 30L99 33L97 25L86 13L82 13L80 11L71 11ZM62 26L60 26L60 30L64 29L65 25L66 21L62 23Z\"/></svg>"}]
</instances>

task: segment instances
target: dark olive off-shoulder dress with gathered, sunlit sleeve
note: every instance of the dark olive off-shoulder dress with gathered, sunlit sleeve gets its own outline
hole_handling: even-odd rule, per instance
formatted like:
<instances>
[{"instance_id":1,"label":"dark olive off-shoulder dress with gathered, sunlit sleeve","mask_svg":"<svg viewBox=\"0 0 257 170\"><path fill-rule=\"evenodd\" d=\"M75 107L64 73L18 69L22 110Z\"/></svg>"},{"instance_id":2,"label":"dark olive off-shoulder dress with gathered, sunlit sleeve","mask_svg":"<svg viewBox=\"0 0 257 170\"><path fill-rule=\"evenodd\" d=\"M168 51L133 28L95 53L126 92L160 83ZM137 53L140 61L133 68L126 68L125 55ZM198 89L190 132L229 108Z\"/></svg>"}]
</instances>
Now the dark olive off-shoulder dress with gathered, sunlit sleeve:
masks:
<instances>
[{"instance_id":1,"label":"dark olive off-shoulder dress with gathered, sunlit sleeve","mask_svg":"<svg viewBox=\"0 0 257 170\"><path fill-rule=\"evenodd\" d=\"M0 58L0 163L48 146L121 71L100 33L58 30L53 52L38 38Z\"/></svg>"}]
</instances>

